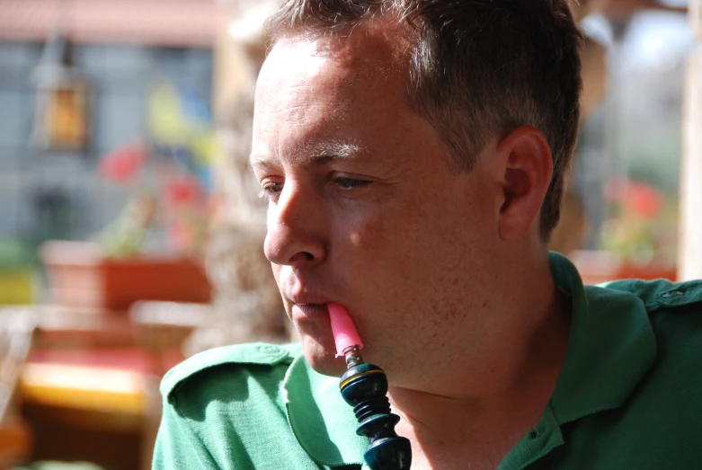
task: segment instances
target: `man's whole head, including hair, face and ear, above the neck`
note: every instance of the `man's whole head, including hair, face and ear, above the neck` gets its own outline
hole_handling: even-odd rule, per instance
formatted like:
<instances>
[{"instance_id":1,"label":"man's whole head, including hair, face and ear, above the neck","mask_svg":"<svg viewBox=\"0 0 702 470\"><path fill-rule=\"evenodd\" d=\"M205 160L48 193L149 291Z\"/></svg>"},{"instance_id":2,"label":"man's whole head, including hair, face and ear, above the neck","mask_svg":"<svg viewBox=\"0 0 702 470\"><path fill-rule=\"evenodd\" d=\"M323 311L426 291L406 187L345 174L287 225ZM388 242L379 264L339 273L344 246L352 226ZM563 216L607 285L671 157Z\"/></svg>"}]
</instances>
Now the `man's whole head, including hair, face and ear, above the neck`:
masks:
<instances>
[{"instance_id":1,"label":"man's whole head, including hair, face and ear, above the neck","mask_svg":"<svg viewBox=\"0 0 702 470\"><path fill-rule=\"evenodd\" d=\"M455 366L471 348L502 341L493 326L508 316L496 311L514 302L514 279L532 276L530 263L545 258L537 219L553 168L573 146L577 32L560 24L567 10L559 18L546 3L550 25L533 20L546 22L544 12L498 8L498 0L349 10L360 3L293 2L271 20L276 43L256 89L252 164L270 198L264 251L308 361L324 373L343 368L324 306L335 302L358 327L364 357L407 384L417 370ZM461 18L440 20L442 4L447 13L459 5ZM433 22L458 22L462 32L432 36L420 14L427 9ZM531 67L554 51L540 50L543 41L508 48L493 31L503 22L510 41L530 40L529 30L516 39L520 22L538 37L572 34L572 54L549 43L573 62L572 109L545 111L545 102L561 110L554 103L565 100L535 81L561 90L549 77L564 66L556 70L552 59L545 74ZM488 48L484 38L497 43ZM492 51L485 57L484 48ZM447 54L463 62L443 65ZM522 84L529 74L537 78ZM538 130L563 120L565 139ZM561 149L559 163L549 146Z\"/></svg>"}]
</instances>

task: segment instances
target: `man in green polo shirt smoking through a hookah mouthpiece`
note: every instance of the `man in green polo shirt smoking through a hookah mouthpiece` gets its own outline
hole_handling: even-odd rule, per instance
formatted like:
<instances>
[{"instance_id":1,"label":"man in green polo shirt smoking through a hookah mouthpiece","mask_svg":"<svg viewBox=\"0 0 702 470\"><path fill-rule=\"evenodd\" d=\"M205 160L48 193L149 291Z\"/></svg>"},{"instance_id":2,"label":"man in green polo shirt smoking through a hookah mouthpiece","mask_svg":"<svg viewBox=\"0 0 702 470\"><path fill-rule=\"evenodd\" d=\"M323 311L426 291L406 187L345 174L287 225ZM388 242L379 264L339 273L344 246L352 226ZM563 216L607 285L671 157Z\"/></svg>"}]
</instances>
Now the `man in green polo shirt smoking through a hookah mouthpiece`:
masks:
<instances>
[{"instance_id":1,"label":"man in green polo shirt smoking through a hookah mouthpiece","mask_svg":"<svg viewBox=\"0 0 702 470\"><path fill-rule=\"evenodd\" d=\"M264 244L298 346L164 378L155 468L358 467L326 304L413 468L693 468L702 284L583 288L548 253L578 126L561 0L290 0L257 84Z\"/></svg>"}]
</instances>

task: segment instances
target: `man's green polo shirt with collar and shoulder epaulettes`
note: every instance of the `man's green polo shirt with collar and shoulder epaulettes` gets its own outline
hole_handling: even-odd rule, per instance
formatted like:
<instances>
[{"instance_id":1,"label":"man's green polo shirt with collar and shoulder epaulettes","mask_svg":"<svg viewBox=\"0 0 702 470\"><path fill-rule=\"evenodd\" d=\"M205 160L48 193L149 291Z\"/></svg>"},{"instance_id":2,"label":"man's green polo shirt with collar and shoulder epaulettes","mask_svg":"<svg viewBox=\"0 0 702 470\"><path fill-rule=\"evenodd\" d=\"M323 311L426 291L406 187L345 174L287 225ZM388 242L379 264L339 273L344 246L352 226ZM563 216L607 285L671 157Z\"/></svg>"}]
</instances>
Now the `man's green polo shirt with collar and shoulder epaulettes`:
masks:
<instances>
[{"instance_id":1,"label":"man's green polo shirt with collar and shoulder epaulettes","mask_svg":"<svg viewBox=\"0 0 702 470\"><path fill-rule=\"evenodd\" d=\"M702 468L702 281L583 286L550 255L573 300L563 368L541 421L499 470ZM338 379L298 345L204 351L161 385L155 469L359 468L368 440Z\"/></svg>"}]
</instances>

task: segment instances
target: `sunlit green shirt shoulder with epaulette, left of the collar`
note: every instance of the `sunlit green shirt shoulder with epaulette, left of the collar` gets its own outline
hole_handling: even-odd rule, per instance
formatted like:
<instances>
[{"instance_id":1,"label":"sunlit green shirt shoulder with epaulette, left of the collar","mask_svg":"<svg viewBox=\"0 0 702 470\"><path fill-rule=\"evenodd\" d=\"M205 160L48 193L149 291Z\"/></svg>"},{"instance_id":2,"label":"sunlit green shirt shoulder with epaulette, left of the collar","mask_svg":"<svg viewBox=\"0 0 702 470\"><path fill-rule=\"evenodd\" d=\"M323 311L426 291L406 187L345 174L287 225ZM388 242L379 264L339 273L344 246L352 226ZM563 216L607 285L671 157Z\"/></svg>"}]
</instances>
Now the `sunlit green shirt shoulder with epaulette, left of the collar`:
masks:
<instances>
[{"instance_id":1,"label":"sunlit green shirt shoulder with epaulette, left of the collar","mask_svg":"<svg viewBox=\"0 0 702 470\"><path fill-rule=\"evenodd\" d=\"M161 383L164 408L154 468L315 468L290 431L286 381L298 345L206 350Z\"/></svg>"}]
</instances>

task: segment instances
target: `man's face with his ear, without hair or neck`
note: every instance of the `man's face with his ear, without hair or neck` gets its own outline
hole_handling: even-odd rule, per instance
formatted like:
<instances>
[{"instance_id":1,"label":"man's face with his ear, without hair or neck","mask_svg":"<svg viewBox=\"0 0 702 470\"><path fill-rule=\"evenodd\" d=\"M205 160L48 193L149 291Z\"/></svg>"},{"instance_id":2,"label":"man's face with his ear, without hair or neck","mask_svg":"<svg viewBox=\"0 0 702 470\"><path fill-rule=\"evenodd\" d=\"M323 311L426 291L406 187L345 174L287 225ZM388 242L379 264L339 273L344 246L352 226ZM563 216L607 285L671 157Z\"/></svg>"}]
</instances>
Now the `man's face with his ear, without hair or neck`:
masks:
<instances>
[{"instance_id":1,"label":"man's face with his ear, without hair or neck","mask_svg":"<svg viewBox=\"0 0 702 470\"><path fill-rule=\"evenodd\" d=\"M336 302L364 359L402 383L458 354L466 331L479 337L499 207L489 166L450 169L409 108L398 37L280 40L257 84L252 164L270 198L264 251L307 360L342 373L325 307Z\"/></svg>"}]
</instances>

